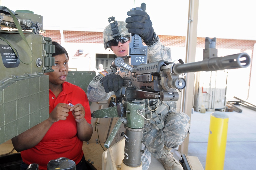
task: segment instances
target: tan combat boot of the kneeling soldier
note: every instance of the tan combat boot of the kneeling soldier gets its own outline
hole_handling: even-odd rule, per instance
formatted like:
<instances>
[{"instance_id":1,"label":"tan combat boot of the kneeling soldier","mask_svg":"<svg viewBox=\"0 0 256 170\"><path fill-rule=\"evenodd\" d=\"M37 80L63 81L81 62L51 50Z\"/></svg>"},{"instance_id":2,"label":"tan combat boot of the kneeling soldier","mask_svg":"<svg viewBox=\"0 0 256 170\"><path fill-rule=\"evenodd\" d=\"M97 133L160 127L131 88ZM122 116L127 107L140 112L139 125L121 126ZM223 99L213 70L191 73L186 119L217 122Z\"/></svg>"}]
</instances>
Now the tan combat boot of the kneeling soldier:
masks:
<instances>
[{"instance_id":1,"label":"tan combat boot of the kneeling soldier","mask_svg":"<svg viewBox=\"0 0 256 170\"><path fill-rule=\"evenodd\" d=\"M171 148L167 148L164 145L163 155L161 158L157 159L164 165L166 170L183 170L182 165L173 157L173 152L171 152Z\"/></svg>"}]
</instances>

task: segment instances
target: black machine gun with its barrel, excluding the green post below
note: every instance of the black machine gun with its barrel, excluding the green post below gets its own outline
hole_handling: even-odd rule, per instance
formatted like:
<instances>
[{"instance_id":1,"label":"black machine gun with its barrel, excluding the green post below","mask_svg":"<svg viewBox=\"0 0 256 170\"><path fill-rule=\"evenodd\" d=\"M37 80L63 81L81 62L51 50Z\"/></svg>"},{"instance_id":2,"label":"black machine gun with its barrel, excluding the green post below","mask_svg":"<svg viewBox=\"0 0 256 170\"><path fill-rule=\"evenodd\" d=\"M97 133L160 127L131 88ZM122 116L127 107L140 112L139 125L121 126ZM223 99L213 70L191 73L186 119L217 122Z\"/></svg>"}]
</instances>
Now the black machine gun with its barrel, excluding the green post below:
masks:
<instances>
[{"instance_id":1,"label":"black machine gun with its barrel, excluding the green post below","mask_svg":"<svg viewBox=\"0 0 256 170\"><path fill-rule=\"evenodd\" d=\"M206 40L209 40L206 37ZM126 101L142 99L160 99L161 101L177 101L178 90L186 87L182 77L188 72L217 71L224 69L246 68L250 64L247 53L233 54L225 57L207 57L202 61L183 63L157 61L141 64L136 69L125 63L121 57L116 58L111 66L120 67L116 74L124 79L121 97Z\"/></svg>"}]
</instances>

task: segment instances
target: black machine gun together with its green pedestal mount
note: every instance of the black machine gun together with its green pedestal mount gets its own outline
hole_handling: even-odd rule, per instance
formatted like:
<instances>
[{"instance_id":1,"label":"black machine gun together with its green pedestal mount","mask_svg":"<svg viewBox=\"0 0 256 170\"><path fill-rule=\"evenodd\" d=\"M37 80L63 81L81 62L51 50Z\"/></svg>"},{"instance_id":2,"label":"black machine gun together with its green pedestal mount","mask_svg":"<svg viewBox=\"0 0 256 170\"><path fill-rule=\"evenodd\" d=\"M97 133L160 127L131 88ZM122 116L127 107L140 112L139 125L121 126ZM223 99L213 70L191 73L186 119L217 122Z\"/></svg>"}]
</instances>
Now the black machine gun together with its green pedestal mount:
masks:
<instances>
[{"instance_id":1,"label":"black machine gun together with its green pedestal mount","mask_svg":"<svg viewBox=\"0 0 256 170\"><path fill-rule=\"evenodd\" d=\"M132 10L142 10L133 8ZM134 36L134 35L131 35ZM138 53L131 55L131 47L134 47L135 38L130 38L129 61L138 61L147 54L142 42L137 43ZM246 68L250 65L250 57L246 53L234 54L225 57L217 57L215 48L216 38L206 37L203 60L198 62L179 63L169 61L157 61L153 63L131 64L125 63L120 57L116 58L111 67L118 68L115 74L119 74L124 80L124 86L119 94L125 100L124 103L116 103L116 106L94 111L93 118L119 117L110 136L105 142L108 148L114 139L121 124L124 124L125 149L122 167L140 168L142 131L145 128L145 99L158 99L161 101L177 101L179 99L177 90L186 87L184 76L188 72L217 71L224 69ZM140 50L142 49L142 50ZM132 67L132 65L134 67Z\"/></svg>"}]
</instances>

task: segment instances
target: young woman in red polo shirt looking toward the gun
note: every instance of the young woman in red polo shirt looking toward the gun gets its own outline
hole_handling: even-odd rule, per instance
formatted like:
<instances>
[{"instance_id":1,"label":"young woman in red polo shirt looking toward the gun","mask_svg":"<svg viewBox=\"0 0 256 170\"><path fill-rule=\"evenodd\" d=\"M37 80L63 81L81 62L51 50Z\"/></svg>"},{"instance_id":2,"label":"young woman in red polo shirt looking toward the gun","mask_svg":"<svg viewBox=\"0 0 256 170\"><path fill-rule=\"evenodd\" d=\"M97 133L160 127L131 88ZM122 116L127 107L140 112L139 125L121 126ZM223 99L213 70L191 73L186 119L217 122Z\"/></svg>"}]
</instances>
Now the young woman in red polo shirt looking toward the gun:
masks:
<instances>
[{"instance_id":1,"label":"young woman in red polo shirt looking toward the gun","mask_svg":"<svg viewBox=\"0 0 256 170\"><path fill-rule=\"evenodd\" d=\"M49 75L49 118L12 139L16 151L21 152L25 170L31 163L47 169L50 160L65 157L76 163L76 170L84 169L82 141L93 133L91 111L86 93L78 86L66 82L68 53L60 44L55 45L54 72Z\"/></svg>"}]
</instances>

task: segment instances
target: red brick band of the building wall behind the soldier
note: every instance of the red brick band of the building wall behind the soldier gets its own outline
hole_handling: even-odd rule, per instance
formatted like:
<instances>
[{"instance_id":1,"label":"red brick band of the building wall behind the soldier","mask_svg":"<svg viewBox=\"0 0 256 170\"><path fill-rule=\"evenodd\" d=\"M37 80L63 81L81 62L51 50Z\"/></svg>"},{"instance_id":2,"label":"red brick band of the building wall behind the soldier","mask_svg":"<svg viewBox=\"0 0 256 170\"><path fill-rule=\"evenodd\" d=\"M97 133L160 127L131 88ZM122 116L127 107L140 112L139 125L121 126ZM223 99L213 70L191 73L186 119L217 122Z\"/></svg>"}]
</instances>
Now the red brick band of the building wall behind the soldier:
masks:
<instances>
[{"instance_id":1,"label":"red brick band of the building wall behind the soldier","mask_svg":"<svg viewBox=\"0 0 256 170\"><path fill-rule=\"evenodd\" d=\"M52 41L61 41L61 35L58 30L46 30L42 33L45 37L51 37ZM64 41L67 43L103 43L102 32L86 32L86 31L63 31ZM171 47L185 47L186 37L158 35L163 45ZM233 48L245 50L253 50L253 45L256 41L253 40L233 40L217 38L216 48ZM197 47L205 47L205 37L197 38ZM250 55L250 54L249 54Z\"/></svg>"}]
</instances>

